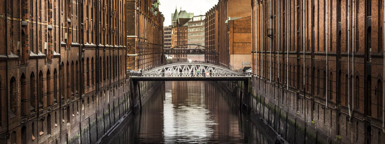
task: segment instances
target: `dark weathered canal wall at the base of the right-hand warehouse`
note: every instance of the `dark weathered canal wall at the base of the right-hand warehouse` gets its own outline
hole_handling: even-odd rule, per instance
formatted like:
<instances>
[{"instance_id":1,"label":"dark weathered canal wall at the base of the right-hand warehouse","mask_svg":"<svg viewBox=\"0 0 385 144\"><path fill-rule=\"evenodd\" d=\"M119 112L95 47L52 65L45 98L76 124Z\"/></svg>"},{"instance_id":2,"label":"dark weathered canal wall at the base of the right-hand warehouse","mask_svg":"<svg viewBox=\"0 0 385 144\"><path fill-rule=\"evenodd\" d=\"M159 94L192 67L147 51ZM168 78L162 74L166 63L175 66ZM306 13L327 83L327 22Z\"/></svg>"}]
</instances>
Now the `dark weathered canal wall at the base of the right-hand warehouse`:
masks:
<instances>
[{"instance_id":1,"label":"dark weathered canal wall at the base of the right-hand warehouse","mask_svg":"<svg viewBox=\"0 0 385 144\"><path fill-rule=\"evenodd\" d=\"M271 134L281 142L378 144L385 141L379 127L372 127L367 121L355 117L349 121L348 114L326 107L320 99L255 77L249 87L248 103L243 104L246 112L252 121L268 126L273 131ZM243 91L243 85L238 87L238 98L242 95L239 91ZM370 132L367 132L368 127ZM365 139L365 134L370 134L371 139Z\"/></svg>"}]
</instances>

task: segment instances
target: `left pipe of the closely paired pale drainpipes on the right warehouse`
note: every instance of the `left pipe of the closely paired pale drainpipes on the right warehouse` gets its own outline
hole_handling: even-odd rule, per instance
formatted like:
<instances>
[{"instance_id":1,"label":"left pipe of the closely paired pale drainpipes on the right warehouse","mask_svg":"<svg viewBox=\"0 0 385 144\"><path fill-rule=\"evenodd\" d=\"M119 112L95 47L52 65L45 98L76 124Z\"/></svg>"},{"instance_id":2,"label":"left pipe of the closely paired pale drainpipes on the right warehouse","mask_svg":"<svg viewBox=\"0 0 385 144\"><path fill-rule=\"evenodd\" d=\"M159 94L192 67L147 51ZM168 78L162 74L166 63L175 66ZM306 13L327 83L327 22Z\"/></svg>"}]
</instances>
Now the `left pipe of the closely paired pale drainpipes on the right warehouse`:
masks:
<instances>
[{"instance_id":1,"label":"left pipe of the closely paired pale drainpipes on the right warehouse","mask_svg":"<svg viewBox=\"0 0 385 144\"><path fill-rule=\"evenodd\" d=\"M350 0L348 0L348 109L349 109L349 117L352 116L352 109L350 109Z\"/></svg>"}]
</instances>

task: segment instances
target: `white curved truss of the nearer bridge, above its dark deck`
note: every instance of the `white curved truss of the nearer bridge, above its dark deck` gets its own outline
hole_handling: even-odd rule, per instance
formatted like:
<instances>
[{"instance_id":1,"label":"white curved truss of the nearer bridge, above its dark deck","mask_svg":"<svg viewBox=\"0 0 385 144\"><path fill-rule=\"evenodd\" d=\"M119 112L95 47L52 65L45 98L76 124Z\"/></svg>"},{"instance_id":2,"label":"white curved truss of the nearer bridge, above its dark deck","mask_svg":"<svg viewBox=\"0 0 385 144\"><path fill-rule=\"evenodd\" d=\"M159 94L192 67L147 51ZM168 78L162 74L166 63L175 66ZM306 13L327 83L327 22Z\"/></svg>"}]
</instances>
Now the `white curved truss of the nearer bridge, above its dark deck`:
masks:
<instances>
[{"instance_id":1,"label":"white curved truss of the nearer bridge, above its dark deck","mask_svg":"<svg viewBox=\"0 0 385 144\"><path fill-rule=\"evenodd\" d=\"M180 72L182 70L182 72ZM249 73L243 71L233 71L221 66L212 65L208 63L173 63L169 65L160 66L149 71L142 71L139 76L143 77L158 77L158 76L203 76L204 73L210 73L211 77L226 77L226 76L251 76ZM192 74L191 74L192 72Z\"/></svg>"}]
</instances>

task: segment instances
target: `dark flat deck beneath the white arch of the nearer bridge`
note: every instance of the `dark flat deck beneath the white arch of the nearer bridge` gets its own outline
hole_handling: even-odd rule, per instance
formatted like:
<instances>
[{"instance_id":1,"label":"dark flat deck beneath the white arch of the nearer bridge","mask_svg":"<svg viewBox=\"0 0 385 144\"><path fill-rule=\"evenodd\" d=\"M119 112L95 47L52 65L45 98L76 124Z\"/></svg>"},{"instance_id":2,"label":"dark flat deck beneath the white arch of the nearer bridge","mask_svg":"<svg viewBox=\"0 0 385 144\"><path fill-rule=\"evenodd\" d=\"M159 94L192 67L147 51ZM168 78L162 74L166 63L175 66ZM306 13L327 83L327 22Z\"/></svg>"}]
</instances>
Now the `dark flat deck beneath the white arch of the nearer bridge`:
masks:
<instances>
[{"instance_id":1,"label":"dark flat deck beneath the white arch of the nearer bridge","mask_svg":"<svg viewBox=\"0 0 385 144\"><path fill-rule=\"evenodd\" d=\"M246 81L251 76L131 76L133 81Z\"/></svg>"}]
</instances>

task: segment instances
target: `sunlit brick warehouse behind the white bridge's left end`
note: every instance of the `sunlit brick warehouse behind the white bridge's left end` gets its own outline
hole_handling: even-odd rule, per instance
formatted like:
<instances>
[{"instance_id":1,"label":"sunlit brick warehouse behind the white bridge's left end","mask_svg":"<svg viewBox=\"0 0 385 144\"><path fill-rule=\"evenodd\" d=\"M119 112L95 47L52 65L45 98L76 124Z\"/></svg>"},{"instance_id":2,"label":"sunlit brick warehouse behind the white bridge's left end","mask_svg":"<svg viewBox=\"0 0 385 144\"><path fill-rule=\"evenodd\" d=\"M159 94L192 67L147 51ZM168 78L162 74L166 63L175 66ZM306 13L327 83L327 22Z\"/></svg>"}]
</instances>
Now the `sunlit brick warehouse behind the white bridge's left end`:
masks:
<instances>
[{"instance_id":1,"label":"sunlit brick warehouse behind the white bridge's left end","mask_svg":"<svg viewBox=\"0 0 385 144\"><path fill-rule=\"evenodd\" d=\"M164 17L158 5L156 0L127 0L127 69L151 70L163 63Z\"/></svg>"}]
</instances>

